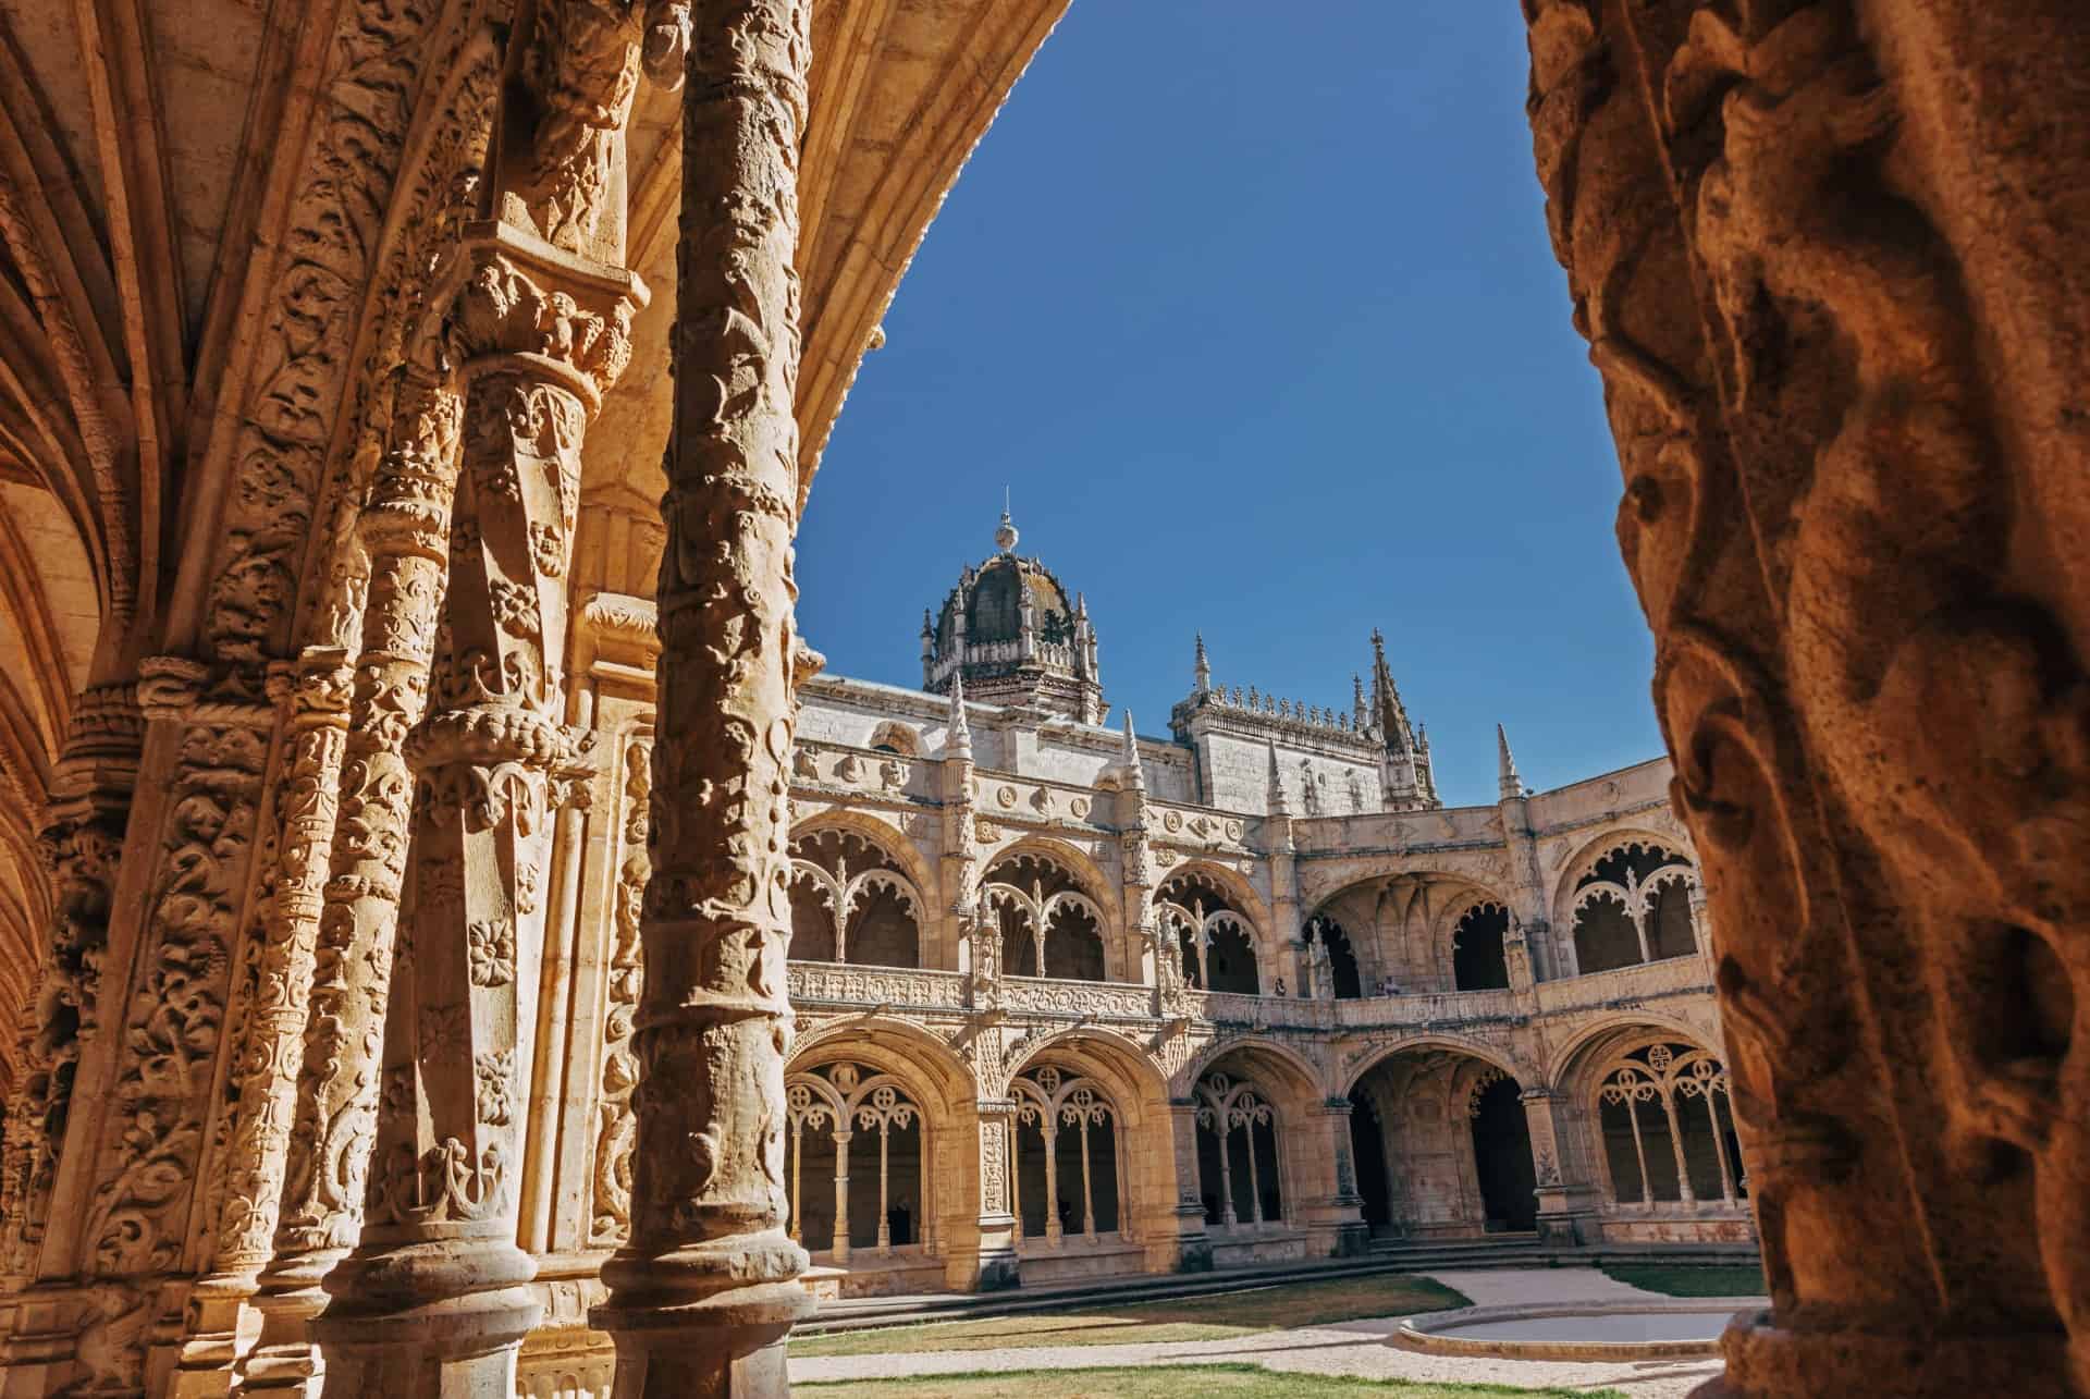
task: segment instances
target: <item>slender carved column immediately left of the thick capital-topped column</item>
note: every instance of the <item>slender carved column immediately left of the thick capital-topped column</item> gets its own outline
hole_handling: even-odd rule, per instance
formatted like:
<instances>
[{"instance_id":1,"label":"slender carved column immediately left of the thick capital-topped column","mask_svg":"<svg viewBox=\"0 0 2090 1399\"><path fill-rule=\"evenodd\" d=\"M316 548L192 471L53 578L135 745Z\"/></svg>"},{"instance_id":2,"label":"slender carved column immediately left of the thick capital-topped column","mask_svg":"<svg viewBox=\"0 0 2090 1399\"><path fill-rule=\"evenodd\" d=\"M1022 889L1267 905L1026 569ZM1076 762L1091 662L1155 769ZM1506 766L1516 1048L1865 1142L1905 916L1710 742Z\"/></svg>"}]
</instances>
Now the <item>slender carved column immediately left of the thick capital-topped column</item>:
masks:
<instances>
[{"instance_id":1,"label":"slender carved column immediately left of the thick capital-topped column","mask_svg":"<svg viewBox=\"0 0 2090 1399\"><path fill-rule=\"evenodd\" d=\"M303 1391L318 1374L305 1324L328 1301L320 1280L362 1230L412 816L405 740L422 715L435 657L462 414L447 364L405 366L391 441L357 519L370 552L370 598L349 692L276 1251L255 1297L261 1336L245 1368L255 1393Z\"/></svg>"}]
</instances>

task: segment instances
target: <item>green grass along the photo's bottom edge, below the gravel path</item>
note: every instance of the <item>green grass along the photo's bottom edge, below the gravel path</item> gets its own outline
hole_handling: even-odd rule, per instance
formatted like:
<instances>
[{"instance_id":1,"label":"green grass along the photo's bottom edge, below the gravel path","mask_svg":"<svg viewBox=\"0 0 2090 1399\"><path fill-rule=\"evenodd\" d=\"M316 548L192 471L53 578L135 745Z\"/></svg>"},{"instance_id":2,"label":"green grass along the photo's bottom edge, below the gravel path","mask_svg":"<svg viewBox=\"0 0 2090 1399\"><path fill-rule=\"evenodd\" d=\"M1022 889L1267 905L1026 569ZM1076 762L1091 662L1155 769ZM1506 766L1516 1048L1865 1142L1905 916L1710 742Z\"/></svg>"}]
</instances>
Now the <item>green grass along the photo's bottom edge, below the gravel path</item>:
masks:
<instances>
[{"instance_id":1,"label":"green grass along the photo's bottom edge, below the gravel path","mask_svg":"<svg viewBox=\"0 0 2090 1399\"><path fill-rule=\"evenodd\" d=\"M1616 1389L1513 1389L1509 1384L1425 1384L1279 1374L1260 1366L1135 1366L1120 1370L1009 1370L901 1380L794 1384L819 1399L1626 1399Z\"/></svg>"}]
</instances>

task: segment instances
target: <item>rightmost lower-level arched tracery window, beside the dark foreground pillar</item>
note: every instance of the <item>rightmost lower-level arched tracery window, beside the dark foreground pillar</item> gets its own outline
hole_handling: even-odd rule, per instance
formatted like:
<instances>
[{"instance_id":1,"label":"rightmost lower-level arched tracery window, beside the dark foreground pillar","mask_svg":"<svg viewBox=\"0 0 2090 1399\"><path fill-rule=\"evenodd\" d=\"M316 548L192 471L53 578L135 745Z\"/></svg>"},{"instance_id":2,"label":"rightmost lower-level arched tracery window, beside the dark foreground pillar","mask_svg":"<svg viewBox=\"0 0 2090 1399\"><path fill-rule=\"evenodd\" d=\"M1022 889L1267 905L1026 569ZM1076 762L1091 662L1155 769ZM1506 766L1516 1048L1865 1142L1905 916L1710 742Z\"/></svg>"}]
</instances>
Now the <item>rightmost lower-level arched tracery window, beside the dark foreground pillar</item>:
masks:
<instances>
[{"instance_id":1,"label":"rightmost lower-level arched tracery window, beside the dark foreground pillar","mask_svg":"<svg viewBox=\"0 0 2090 1399\"><path fill-rule=\"evenodd\" d=\"M1597 1117L1613 1205L1735 1205L1745 1194L1726 1069L1705 1050L1657 1041L1613 1060Z\"/></svg>"}]
</instances>

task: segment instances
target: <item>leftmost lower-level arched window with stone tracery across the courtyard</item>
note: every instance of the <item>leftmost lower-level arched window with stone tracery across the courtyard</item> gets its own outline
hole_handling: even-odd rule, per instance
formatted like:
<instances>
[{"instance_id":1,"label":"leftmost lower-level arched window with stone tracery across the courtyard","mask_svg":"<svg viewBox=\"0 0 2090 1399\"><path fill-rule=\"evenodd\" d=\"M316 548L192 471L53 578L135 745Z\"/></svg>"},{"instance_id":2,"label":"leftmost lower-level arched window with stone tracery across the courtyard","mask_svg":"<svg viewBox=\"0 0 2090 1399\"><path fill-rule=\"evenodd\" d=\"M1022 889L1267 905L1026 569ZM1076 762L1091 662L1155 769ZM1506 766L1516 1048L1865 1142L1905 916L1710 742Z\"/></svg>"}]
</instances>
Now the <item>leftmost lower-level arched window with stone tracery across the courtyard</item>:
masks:
<instances>
[{"instance_id":1,"label":"leftmost lower-level arched window with stone tracery across the courtyard","mask_svg":"<svg viewBox=\"0 0 2090 1399\"><path fill-rule=\"evenodd\" d=\"M784 1108L792 1240L832 1251L836 1263L846 1263L851 1248L890 1255L926 1242L928 1142L922 1108L899 1081L857 1064L823 1064L784 1079ZM863 1146L853 1146L857 1138ZM863 1163L861 1173L853 1161Z\"/></svg>"}]
</instances>

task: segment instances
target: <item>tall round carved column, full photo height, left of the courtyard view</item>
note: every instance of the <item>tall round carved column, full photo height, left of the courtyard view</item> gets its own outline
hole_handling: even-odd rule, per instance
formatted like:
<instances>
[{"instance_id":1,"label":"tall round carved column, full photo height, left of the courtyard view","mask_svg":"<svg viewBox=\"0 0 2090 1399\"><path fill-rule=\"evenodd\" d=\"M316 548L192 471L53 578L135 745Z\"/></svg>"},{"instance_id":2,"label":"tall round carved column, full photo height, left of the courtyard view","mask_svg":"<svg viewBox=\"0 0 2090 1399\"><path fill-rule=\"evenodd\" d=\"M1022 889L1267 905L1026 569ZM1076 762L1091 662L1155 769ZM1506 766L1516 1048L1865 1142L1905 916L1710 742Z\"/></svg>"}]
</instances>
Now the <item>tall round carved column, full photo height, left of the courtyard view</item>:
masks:
<instances>
[{"instance_id":1,"label":"tall round carved column, full photo height, left of the courtyard view","mask_svg":"<svg viewBox=\"0 0 2090 1399\"><path fill-rule=\"evenodd\" d=\"M784 1232L788 761L800 642L798 142L811 4L700 0L683 92L675 429L631 1242L617 1393L782 1395L811 1309ZM663 33L665 40L673 36ZM675 50L658 54L673 61Z\"/></svg>"}]
</instances>

